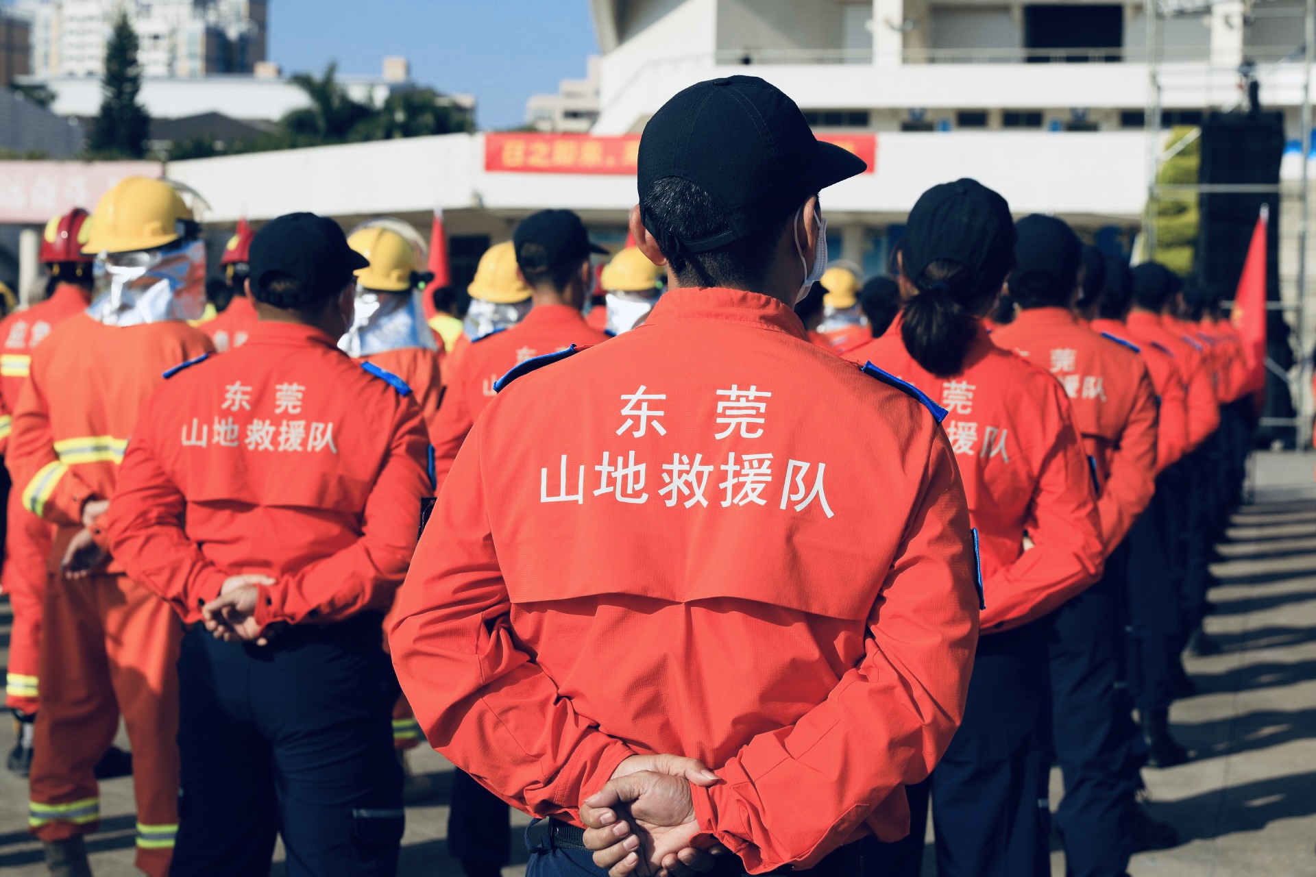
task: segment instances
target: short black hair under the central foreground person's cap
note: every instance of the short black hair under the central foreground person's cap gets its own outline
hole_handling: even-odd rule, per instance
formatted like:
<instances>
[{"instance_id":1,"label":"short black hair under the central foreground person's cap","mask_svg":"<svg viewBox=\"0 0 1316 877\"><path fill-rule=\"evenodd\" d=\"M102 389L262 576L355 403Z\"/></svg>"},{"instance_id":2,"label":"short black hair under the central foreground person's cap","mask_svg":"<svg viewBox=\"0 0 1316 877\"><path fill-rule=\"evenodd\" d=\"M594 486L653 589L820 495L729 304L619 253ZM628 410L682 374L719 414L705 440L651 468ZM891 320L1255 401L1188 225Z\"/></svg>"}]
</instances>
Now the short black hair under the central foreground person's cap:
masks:
<instances>
[{"instance_id":1,"label":"short black hair under the central foreground person's cap","mask_svg":"<svg viewBox=\"0 0 1316 877\"><path fill-rule=\"evenodd\" d=\"M795 217L791 208L767 220L761 230L707 252L690 252L680 241L711 238L730 227L722 210L701 187L679 176L654 180L640 199L640 216L672 272L687 287L749 289L767 276L782 229Z\"/></svg>"}]
</instances>

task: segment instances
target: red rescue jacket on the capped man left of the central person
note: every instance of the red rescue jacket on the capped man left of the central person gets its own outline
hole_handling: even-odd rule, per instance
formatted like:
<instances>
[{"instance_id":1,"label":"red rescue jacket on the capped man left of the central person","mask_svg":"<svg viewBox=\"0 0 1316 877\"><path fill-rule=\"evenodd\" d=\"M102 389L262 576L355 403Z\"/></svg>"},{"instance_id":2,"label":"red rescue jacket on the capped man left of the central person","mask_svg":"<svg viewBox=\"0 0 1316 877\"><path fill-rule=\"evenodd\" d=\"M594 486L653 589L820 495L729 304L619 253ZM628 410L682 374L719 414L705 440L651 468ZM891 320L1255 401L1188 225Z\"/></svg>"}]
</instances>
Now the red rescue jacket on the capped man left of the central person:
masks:
<instances>
[{"instance_id":1,"label":"red rescue jacket on the capped man left of the central person","mask_svg":"<svg viewBox=\"0 0 1316 877\"><path fill-rule=\"evenodd\" d=\"M142 412L105 527L137 581L200 618L232 575L276 580L257 621L387 610L430 494L420 409L317 329L257 323Z\"/></svg>"}]
</instances>

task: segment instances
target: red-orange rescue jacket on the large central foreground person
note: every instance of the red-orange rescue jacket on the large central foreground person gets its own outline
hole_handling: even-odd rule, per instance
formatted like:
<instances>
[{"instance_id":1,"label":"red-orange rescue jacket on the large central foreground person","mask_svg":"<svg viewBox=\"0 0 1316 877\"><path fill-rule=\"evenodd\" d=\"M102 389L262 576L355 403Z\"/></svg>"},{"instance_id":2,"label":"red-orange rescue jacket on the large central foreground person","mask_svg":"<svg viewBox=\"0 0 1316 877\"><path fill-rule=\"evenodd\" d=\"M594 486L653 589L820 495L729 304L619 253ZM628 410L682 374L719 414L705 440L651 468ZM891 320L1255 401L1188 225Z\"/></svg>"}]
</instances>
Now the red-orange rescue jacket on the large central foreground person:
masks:
<instances>
[{"instance_id":1,"label":"red-orange rescue jacket on the large central foreground person","mask_svg":"<svg viewBox=\"0 0 1316 877\"><path fill-rule=\"evenodd\" d=\"M700 757L726 780L692 789L700 826L755 873L907 832L978 593L945 434L874 376L775 298L678 289L503 379L399 592L426 736L566 820L632 755Z\"/></svg>"}]
</instances>

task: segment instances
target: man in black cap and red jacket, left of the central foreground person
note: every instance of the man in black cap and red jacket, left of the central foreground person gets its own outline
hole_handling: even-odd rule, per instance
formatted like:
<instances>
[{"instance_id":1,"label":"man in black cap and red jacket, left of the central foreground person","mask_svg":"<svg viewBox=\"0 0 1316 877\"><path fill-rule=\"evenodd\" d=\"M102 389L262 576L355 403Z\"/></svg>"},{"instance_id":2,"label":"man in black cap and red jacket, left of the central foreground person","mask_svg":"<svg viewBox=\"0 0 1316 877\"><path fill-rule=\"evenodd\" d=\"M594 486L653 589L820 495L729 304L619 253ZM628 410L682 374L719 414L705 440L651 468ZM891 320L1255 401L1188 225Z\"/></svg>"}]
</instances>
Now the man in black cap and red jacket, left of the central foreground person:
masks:
<instances>
[{"instance_id":1,"label":"man in black cap and red jacket, left of the central foreground person","mask_svg":"<svg viewBox=\"0 0 1316 877\"><path fill-rule=\"evenodd\" d=\"M330 220L251 242L261 321L171 369L124 456L114 556L188 626L171 874L392 874L397 688L380 623L416 544L428 440L396 376L337 348L351 272Z\"/></svg>"}]
</instances>

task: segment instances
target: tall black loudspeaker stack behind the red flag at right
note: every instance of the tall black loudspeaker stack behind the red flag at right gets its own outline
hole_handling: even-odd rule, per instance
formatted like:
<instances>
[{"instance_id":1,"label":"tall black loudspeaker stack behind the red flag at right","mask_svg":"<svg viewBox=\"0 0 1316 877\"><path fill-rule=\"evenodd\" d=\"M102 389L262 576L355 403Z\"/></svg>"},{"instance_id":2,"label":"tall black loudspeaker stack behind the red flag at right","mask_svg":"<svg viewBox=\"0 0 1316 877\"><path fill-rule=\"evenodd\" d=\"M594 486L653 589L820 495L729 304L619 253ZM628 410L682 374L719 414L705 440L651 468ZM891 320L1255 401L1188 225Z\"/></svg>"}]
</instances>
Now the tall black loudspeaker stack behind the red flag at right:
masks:
<instances>
[{"instance_id":1,"label":"tall black loudspeaker stack behind the red flag at right","mask_svg":"<svg viewBox=\"0 0 1316 877\"><path fill-rule=\"evenodd\" d=\"M1282 113L1211 113L1202 126L1203 184L1277 185L1279 160L1284 153L1284 118ZM1202 224L1194 273L1204 289L1216 289L1224 298L1233 298L1248 258L1248 245L1257 225L1262 204L1270 205L1266 241L1266 300L1279 301L1279 193L1209 193L1200 196ZM1270 310L1266 318L1267 355L1280 369L1294 364L1288 342L1288 323L1282 310ZM1263 417L1294 417L1288 385L1269 373ZM1270 446L1280 439L1291 446L1292 427L1262 429L1258 444Z\"/></svg>"}]
</instances>

